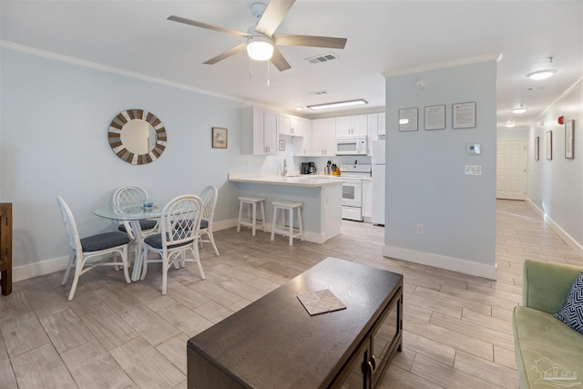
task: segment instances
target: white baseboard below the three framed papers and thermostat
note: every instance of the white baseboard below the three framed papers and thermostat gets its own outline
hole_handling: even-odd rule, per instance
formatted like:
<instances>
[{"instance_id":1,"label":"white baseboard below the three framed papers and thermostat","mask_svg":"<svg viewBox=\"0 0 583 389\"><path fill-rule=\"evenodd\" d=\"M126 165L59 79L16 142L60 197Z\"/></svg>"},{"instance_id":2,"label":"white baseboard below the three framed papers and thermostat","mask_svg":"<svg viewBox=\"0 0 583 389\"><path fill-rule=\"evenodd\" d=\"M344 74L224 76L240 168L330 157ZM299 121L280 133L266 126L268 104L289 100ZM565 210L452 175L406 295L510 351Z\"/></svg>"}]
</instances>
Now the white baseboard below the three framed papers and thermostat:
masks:
<instances>
[{"instance_id":1,"label":"white baseboard below the three framed papers and thermostat","mask_svg":"<svg viewBox=\"0 0 583 389\"><path fill-rule=\"evenodd\" d=\"M487 278L488 280L497 279L496 263L494 265L486 265L484 263L446 257L445 255L386 245L383 247L383 255L384 257L394 258L396 260L419 263L448 271L457 271L464 274Z\"/></svg>"}]
</instances>

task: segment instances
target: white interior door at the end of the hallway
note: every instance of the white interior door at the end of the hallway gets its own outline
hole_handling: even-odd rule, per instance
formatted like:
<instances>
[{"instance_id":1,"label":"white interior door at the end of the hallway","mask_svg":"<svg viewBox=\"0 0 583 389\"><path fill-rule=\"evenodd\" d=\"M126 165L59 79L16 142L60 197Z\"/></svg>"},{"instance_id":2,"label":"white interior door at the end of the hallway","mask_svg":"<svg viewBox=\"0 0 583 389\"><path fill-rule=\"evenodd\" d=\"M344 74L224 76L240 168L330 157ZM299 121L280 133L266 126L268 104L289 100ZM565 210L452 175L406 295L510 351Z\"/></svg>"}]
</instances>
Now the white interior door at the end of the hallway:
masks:
<instances>
[{"instance_id":1,"label":"white interior door at the end of the hallway","mask_svg":"<svg viewBox=\"0 0 583 389\"><path fill-rule=\"evenodd\" d=\"M496 199L525 200L525 139L501 139L496 147Z\"/></svg>"}]
</instances>

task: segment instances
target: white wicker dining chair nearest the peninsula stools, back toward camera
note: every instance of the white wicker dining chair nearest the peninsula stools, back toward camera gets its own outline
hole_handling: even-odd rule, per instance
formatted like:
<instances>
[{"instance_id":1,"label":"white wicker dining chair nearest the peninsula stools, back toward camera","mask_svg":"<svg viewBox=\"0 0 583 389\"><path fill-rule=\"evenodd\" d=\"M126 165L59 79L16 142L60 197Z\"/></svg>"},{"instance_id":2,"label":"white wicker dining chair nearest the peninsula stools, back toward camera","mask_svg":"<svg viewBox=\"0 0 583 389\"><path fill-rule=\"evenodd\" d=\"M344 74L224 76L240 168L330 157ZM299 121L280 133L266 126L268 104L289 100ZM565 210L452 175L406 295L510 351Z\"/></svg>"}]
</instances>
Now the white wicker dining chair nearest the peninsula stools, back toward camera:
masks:
<instances>
[{"instance_id":1,"label":"white wicker dining chair nearest the peninsula stools, back toward camera","mask_svg":"<svg viewBox=\"0 0 583 389\"><path fill-rule=\"evenodd\" d=\"M183 267L185 262L196 262L200 278L205 279L199 257L199 229L202 216L202 200L199 196L187 194L174 198L164 207L159 222L159 234L150 235L144 240L142 250L142 277L148 272L148 263L162 263L162 295L168 288L168 270L175 265ZM148 251L159 254L159 258L149 259ZM187 258L191 253L192 258Z\"/></svg>"}]
</instances>

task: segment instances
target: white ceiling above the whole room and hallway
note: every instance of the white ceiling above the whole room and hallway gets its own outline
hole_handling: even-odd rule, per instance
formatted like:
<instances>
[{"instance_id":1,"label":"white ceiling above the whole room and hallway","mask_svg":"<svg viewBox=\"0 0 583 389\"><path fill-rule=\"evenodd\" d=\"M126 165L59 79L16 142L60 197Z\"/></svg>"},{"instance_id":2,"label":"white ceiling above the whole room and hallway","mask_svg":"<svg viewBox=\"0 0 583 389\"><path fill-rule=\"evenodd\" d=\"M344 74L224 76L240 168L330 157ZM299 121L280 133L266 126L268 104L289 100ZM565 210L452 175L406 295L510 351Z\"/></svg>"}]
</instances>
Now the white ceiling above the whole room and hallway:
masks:
<instances>
[{"instance_id":1,"label":"white ceiling above the whole room and hallway","mask_svg":"<svg viewBox=\"0 0 583 389\"><path fill-rule=\"evenodd\" d=\"M498 129L511 119L515 129L527 128L583 74L581 0L297 0L276 33L338 36L348 42L343 50L281 46L292 68L278 72L270 65L269 76L267 64L251 67L245 52L203 65L244 38L166 20L179 15L246 32L256 2L0 0L0 39L5 47L32 47L288 112L353 98L381 111L383 75L501 54ZM317 65L305 61L328 52L338 59ZM552 64L547 56L553 56ZM526 77L548 67L557 69L554 77ZM318 90L330 94L309 95ZM513 114L520 104L527 113ZM315 118L349 112L304 108L296 113Z\"/></svg>"}]
</instances>

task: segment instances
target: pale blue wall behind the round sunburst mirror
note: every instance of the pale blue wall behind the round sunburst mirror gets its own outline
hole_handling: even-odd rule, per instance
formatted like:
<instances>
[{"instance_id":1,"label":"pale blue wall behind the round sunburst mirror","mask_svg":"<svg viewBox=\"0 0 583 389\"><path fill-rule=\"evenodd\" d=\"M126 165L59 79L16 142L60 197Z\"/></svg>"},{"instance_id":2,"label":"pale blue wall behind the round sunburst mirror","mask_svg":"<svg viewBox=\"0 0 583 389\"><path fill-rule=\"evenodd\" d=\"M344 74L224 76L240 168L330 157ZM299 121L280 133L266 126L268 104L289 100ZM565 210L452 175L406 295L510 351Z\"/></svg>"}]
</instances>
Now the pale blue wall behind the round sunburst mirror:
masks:
<instances>
[{"instance_id":1,"label":"pale blue wall behind the round sunburst mirror","mask_svg":"<svg viewBox=\"0 0 583 389\"><path fill-rule=\"evenodd\" d=\"M159 200L215 185L215 220L232 220L238 191L227 173L275 173L281 164L241 156L240 102L11 49L0 52L0 70L0 200L13 203L15 267L67 255L59 194L82 235L111 229L91 210L125 184ZM154 163L130 165L109 148L108 125L128 108L147 109L168 130L168 148ZM212 127L229 129L229 148L210 148Z\"/></svg>"}]
</instances>

